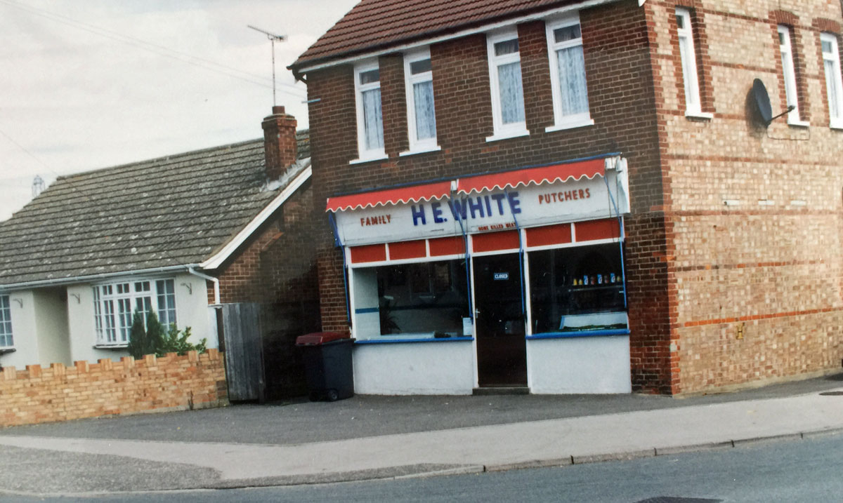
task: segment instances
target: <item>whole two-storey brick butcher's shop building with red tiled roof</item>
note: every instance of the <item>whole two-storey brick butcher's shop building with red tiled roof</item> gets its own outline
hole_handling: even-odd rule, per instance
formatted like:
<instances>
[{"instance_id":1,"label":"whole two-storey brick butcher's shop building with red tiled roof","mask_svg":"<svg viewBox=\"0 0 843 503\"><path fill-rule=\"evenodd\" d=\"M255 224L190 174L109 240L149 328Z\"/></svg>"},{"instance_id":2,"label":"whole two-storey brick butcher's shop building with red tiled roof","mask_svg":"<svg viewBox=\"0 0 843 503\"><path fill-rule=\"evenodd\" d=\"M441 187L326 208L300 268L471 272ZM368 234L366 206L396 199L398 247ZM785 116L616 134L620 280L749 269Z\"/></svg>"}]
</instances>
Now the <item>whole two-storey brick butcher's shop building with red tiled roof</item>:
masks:
<instances>
[{"instance_id":1,"label":"whole two-storey brick butcher's shop building with red tiled roof","mask_svg":"<svg viewBox=\"0 0 843 503\"><path fill-rule=\"evenodd\" d=\"M839 367L840 6L735 8L363 0L299 57L358 393Z\"/></svg>"}]
</instances>

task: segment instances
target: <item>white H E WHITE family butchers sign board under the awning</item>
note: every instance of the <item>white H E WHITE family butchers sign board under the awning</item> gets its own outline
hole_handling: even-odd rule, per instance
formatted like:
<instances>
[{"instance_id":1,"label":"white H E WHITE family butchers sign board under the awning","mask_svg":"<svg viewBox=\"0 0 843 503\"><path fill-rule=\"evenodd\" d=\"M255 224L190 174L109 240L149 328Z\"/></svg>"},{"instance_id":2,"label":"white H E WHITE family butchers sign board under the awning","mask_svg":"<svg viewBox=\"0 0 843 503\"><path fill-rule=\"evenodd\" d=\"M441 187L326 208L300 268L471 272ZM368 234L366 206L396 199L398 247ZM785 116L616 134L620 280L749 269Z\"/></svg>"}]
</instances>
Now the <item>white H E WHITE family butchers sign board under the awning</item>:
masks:
<instances>
[{"instance_id":1,"label":"white H E WHITE family butchers sign board under the awning","mask_svg":"<svg viewBox=\"0 0 843 503\"><path fill-rule=\"evenodd\" d=\"M615 204L628 213L626 180L619 183L615 171L606 177L337 211L337 231L344 245L357 246L609 218L617 215Z\"/></svg>"}]
</instances>

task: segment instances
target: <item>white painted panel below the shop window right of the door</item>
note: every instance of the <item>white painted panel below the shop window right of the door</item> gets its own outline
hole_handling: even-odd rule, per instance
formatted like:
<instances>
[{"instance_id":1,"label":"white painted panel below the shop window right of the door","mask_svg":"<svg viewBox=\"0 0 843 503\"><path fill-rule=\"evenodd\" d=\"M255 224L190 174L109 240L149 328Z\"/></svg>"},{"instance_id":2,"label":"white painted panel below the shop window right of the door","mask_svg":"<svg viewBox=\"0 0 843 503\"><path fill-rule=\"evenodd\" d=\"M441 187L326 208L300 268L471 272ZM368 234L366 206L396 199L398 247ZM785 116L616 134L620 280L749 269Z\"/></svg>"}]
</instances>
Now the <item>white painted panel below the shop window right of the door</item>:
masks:
<instances>
[{"instance_id":1,"label":"white painted panel below the shop window right of the door","mask_svg":"<svg viewBox=\"0 0 843 503\"><path fill-rule=\"evenodd\" d=\"M530 393L631 393L629 336L527 341Z\"/></svg>"}]
</instances>

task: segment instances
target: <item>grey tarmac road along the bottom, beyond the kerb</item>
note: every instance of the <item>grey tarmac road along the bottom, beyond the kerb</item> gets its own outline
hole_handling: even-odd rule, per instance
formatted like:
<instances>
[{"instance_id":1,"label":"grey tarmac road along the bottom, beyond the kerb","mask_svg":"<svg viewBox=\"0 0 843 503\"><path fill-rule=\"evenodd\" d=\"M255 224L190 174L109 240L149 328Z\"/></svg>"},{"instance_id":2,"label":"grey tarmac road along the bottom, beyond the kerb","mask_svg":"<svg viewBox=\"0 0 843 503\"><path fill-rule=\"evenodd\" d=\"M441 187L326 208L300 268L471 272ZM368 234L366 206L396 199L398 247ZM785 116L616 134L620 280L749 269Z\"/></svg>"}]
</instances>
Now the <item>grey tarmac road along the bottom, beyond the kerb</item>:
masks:
<instances>
[{"instance_id":1,"label":"grey tarmac road along the bottom, beyond the kerb","mask_svg":"<svg viewBox=\"0 0 843 503\"><path fill-rule=\"evenodd\" d=\"M840 501L843 435L562 468L235 490L9 501L570 501L714 503ZM675 498L675 499L669 499ZM681 500L680 500L681 498Z\"/></svg>"}]
</instances>

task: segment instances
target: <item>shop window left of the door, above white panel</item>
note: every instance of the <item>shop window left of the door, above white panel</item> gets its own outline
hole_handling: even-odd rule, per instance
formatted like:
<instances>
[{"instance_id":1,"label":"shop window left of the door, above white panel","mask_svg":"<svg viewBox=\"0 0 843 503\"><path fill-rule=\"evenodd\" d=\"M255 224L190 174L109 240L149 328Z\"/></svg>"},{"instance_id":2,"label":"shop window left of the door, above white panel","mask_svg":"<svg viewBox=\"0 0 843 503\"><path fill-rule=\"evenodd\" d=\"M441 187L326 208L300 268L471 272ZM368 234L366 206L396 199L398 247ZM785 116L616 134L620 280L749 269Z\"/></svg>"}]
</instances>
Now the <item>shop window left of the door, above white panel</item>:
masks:
<instances>
[{"instance_id":1,"label":"shop window left of the door, above white panel","mask_svg":"<svg viewBox=\"0 0 843 503\"><path fill-rule=\"evenodd\" d=\"M358 339L463 335L469 314L463 260L356 268L353 274Z\"/></svg>"}]
</instances>

